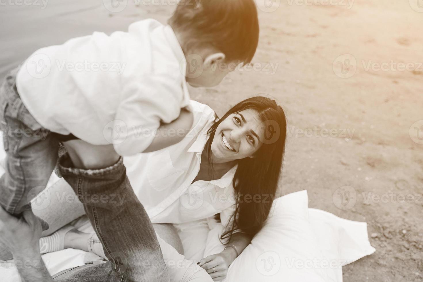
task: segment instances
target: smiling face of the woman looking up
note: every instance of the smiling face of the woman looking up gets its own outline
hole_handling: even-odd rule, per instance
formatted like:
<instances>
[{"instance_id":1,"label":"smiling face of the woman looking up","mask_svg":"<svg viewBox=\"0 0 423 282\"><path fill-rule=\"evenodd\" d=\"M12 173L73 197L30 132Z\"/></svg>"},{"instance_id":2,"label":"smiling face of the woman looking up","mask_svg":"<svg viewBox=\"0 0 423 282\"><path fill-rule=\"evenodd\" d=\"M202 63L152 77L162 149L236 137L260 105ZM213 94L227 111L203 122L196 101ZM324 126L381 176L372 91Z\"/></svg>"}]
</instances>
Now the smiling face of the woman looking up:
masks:
<instances>
[{"instance_id":1,"label":"smiling face of the woman looking up","mask_svg":"<svg viewBox=\"0 0 423 282\"><path fill-rule=\"evenodd\" d=\"M244 159L261 147L260 140L264 140L264 128L253 109L243 110L231 114L217 126L211 152L213 161L229 162Z\"/></svg>"}]
</instances>

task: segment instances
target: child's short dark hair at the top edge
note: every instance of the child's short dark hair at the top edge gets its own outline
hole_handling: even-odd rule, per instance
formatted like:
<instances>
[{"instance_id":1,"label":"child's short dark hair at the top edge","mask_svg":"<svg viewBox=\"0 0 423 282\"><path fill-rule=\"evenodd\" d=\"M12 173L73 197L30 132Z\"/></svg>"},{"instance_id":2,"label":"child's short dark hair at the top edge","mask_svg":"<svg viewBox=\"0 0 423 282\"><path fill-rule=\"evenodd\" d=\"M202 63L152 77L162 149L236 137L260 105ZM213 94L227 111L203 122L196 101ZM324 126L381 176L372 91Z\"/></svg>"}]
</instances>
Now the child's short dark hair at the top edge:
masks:
<instances>
[{"instance_id":1,"label":"child's short dark hair at the top edge","mask_svg":"<svg viewBox=\"0 0 423 282\"><path fill-rule=\"evenodd\" d=\"M227 62L250 63L258 44L254 0L180 0L169 19L173 30L189 36L182 48L211 46Z\"/></svg>"}]
</instances>

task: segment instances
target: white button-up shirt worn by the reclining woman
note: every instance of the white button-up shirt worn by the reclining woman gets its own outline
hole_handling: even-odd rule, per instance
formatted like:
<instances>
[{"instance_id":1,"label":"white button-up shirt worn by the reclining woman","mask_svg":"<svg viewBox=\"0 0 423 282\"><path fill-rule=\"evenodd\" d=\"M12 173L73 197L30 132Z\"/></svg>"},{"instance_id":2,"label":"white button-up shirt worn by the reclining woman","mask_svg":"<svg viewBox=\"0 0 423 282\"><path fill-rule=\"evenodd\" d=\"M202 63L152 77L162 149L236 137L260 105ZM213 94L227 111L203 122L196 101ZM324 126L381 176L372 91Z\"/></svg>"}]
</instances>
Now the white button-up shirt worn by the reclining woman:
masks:
<instances>
[{"instance_id":1,"label":"white button-up shirt worn by the reclining woman","mask_svg":"<svg viewBox=\"0 0 423 282\"><path fill-rule=\"evenodd\" d=\"M152 223L192 222L221 213L222 224L227 225L234 211L236 166L220 179L192 183L200 170L207 131L216 117L209 106L197 101L190 101L190 110L194 125L181 142L125 157L126 173Z\"/></svg>"}]
</instances>

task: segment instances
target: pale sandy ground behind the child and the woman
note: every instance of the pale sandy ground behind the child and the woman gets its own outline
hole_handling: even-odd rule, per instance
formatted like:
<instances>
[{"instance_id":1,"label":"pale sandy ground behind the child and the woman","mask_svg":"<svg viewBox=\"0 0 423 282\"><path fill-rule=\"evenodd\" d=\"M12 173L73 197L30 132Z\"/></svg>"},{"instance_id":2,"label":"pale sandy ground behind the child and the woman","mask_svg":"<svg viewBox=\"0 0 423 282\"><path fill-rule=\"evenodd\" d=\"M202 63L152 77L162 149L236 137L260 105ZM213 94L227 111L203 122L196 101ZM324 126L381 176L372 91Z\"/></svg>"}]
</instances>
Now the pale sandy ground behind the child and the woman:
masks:
<instances>
[{"instance_id":1,"label":"pale sandy ground behind the child and the woman","mask_svg":"<svg viewBox=\"0 0 423 282\"><path fill-rule=\"evenodd\" d=\"M1 3L1 79L39 47L147 17L165 22L174 9L133 0L119 13L93 0ZM307 189L310 207L368 222L376 253L345 267L344 281L422 281L422 1L260 7L255 71L192 89L192 98L222 114L257 93L274 96L289 120L280 194Z\"/></svg>"}]
</instances>

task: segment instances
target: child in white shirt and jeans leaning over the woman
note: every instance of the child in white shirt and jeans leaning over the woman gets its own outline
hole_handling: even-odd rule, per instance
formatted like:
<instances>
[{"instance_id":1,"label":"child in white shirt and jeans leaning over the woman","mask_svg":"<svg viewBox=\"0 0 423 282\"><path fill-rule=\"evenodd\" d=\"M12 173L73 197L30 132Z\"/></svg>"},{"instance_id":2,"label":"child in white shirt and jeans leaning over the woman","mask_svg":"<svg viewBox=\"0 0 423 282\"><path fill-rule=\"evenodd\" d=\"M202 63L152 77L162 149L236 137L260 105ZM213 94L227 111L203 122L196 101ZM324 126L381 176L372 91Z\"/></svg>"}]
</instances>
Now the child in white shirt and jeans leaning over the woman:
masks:
<instances>
[{"instance_id":1,"label":"child in white shirt and jeans leaning over the woman","mask_svg":"<svg viewBox=\"0 0 423 282\"><path fill-rule=\"evenodd\" d=\"M95 32L41 48L7 75L0 89L7 152L0 204L8 213L19 217L45 188L59 141L76 137L98 148L111 143L120 156L179 142L181 136L154 132L174 120L177 127L192 125L190 114L181 112L190 100L186 82L219 84L231 71L225 66L249 63L258 43L253 0L183 2L168 23L147 19L128 32ZM81 161L74 166L116 176L102 169L110 164L98 161L101 153L97 159L81 152L74 152ZM71 164L66 168L74 172ZM70 184L77 189L78 183Z\"/></svg>"}]
</instances>

